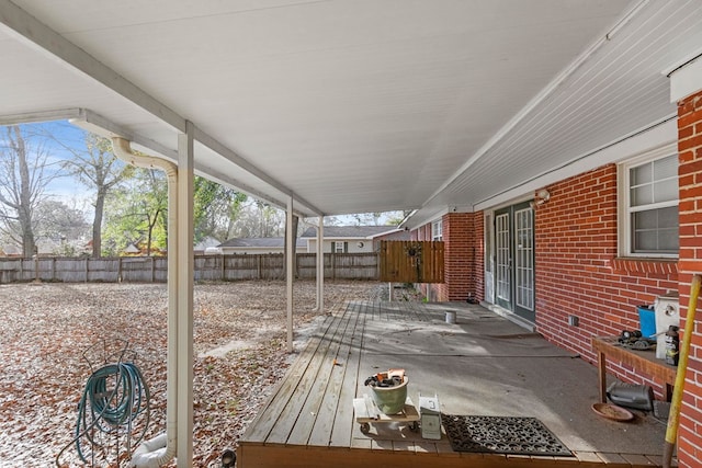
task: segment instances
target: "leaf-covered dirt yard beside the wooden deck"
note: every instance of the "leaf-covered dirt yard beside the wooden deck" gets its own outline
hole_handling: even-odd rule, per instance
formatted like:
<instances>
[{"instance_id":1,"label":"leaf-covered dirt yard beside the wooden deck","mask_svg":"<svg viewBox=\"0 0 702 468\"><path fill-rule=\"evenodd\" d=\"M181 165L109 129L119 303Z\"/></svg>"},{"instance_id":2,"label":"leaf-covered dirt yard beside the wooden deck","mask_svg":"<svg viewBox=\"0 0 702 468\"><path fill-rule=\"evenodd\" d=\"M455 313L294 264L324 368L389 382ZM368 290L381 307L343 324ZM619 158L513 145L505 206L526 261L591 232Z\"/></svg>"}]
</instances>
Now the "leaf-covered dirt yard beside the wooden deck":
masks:
<instances>
[{"instance_id":1,"label":"leaf-covered dirt yard beside the wooden deck","mask_svg":"<svg viewBox=\"0 0 702 468\"><path fill-rule=\"evenodd\" d=\"M325 289L329 307L387 294L367 282L326 282ZM220 466L222 450L236 447L294 361L286 352L285 300L284 282L195 286L193 466ZM150 390L145 438L165 430L166 285L2 285L0 304L0 467L57 466L59 453L58 466L84 466L71 445L77 408L91 373L109 364L103 344L115 346L117 339L128 342ZM314 306L315 283L297 282L297 351L319 321ZM126 466L121 453L118 465L97 466Z\"/></svg>"}]
</instances>

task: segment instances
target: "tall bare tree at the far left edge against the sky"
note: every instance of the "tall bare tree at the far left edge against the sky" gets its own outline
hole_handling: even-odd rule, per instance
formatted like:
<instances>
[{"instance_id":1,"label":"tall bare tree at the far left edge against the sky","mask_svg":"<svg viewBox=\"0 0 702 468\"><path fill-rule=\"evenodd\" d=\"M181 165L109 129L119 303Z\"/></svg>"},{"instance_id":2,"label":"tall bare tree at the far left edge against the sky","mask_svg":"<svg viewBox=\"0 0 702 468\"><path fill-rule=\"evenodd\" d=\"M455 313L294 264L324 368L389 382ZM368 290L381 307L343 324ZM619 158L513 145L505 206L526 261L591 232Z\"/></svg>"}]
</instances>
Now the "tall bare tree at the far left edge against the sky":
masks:
<instances>
[{"instance_id":1,"label":"tall bare tree at the far left edge against the sky","mask_svg":"<svg viewBox=\"0 0 702 468\"><path fill-rule=\"evenodd\" d=\"M48 198L46 186L57 175L49 170L44 141L23 135L25 126L4 128L0 147L0 219L3 233L22 246L22 254L35 253L37 207Z\"/></svg>"}]
</instances>

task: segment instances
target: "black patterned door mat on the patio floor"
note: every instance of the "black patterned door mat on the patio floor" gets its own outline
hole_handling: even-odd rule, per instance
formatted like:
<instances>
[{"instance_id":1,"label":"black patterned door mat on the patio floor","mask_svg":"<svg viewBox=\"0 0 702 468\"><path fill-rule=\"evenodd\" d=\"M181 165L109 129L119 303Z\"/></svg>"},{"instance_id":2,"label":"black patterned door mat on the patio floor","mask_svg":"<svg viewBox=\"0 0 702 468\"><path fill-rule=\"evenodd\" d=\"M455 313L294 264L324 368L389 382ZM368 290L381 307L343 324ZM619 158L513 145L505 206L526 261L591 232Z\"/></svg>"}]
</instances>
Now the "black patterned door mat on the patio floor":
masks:
<instances>
[{"instance_id":1,"label":"black patterned door mat on the patio floor","mask_svg":"<svg viewBox=\"0 0 702 468\"><path fill-rule=\"evenodd\" d=\"M441 414L441 422L454 452L573 456L535 418Z\"/></svg>"}]
</instances>

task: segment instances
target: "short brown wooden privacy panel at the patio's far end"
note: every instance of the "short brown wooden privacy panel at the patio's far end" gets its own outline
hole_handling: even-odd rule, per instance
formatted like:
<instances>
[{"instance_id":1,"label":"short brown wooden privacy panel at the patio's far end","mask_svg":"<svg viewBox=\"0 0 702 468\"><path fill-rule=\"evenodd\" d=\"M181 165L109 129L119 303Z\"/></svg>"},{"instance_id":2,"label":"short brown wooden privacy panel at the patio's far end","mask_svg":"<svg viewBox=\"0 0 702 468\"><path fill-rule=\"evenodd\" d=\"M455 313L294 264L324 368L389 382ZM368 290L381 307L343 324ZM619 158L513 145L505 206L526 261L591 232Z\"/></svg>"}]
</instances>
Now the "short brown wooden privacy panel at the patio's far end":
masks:
<instances>
[{"instance_id":1,"label":"short brown wooden privacy panel at the patio's far end","mask_svg":"<svg viewBox=\"0 0 702 468\"><path fill-rule=\"evenodd\" d=\"M381 241L380 279L389 283L443 283L443 242Z\"/></svg>"}]
</instances>

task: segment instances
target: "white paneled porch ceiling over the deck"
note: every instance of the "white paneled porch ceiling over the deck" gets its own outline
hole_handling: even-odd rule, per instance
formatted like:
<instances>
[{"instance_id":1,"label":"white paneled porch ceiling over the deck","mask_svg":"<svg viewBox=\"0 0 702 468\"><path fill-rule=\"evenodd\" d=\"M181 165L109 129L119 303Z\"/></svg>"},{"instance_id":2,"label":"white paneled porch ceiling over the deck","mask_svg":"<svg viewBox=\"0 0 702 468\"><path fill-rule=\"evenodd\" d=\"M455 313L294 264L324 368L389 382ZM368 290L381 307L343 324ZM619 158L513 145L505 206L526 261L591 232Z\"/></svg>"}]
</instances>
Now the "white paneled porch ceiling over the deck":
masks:
<instances>
[{"instance_id":1,"label":"white paneled porch ceiling over the deck","mask_svg":"<svg viewBox=\"0 0 702 468\"><path fill-rule=\"evenodd\" d=\"M186 119L215 180L427 217L670 118L699 44L683 0L0 0L0 121L83 109L172 158Z\"/></svg>"}]
</instances>

